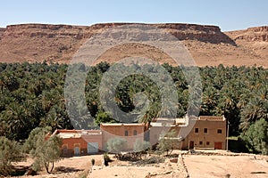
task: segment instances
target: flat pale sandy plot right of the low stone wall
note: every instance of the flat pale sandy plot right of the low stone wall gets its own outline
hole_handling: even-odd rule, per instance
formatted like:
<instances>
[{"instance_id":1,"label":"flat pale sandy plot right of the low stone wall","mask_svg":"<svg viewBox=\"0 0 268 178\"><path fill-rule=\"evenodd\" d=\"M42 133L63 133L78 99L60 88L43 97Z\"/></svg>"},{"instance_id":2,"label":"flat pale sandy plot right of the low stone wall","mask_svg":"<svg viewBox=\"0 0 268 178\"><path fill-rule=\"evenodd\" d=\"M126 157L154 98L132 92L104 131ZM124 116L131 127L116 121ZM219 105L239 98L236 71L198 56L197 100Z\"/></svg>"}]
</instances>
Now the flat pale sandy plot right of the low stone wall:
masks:
<instances>
[{"instance_id":1,"label":"flat pale sandy plot right of the low stone wall","mask_svg":"<svg viewBox=\"0 0 268 178\"><path fill-rule=\"evenodd\" d=\"M185 165L192 178L206 177L268 177L268 163L254 156L185 155Z\"/></svg>"}]
</instances>

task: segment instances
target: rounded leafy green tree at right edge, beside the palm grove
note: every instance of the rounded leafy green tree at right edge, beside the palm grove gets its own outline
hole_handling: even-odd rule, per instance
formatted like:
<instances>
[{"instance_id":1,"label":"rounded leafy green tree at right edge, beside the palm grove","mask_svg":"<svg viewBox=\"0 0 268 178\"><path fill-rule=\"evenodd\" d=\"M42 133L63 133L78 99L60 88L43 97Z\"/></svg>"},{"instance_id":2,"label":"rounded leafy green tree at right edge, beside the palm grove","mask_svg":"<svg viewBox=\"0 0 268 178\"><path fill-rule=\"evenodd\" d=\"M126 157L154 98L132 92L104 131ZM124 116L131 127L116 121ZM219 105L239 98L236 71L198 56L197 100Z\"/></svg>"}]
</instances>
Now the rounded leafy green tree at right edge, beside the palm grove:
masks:
<instances>
[{"instance_id":1,"label":"rounded leafy green tree at right edge, beside the palm grove","mask_svg":"<svg viewBox=\"0 0 268 178\"><path fill-rule=\"evenodd\" d=\"M242 134L242 139L249 150L268 155L268 122L264 118L256 121Z\"/></svg>"}]
</instances>

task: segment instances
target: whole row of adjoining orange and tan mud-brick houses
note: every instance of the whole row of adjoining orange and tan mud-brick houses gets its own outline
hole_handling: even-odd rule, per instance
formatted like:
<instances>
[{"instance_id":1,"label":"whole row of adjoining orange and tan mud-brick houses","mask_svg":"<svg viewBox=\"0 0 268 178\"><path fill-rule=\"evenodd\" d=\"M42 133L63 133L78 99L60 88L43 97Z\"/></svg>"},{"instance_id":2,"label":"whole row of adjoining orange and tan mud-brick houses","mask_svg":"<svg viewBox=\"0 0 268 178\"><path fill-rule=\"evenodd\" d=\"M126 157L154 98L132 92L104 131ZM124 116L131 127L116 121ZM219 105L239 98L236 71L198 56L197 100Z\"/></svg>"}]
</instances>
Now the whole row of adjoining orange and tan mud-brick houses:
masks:
<instances>
[{"instance_id":1,"label":"whole row of adjoining orange and tan mud-brick houses","mask_svg":"<svg viewBox=\"0 0 268 178\"><path fill-rule=\"evenodd\" d=\"M175 148L226 149L225 117L157 118L150 125L145 124L101 124L100 130L55 130L63 139L63 157L96 154L107 150L107 142L115 137L127 140L125 150L133 150L134 143L150 142L152 146L173 130Z\"/></svg>"}]
</instances>

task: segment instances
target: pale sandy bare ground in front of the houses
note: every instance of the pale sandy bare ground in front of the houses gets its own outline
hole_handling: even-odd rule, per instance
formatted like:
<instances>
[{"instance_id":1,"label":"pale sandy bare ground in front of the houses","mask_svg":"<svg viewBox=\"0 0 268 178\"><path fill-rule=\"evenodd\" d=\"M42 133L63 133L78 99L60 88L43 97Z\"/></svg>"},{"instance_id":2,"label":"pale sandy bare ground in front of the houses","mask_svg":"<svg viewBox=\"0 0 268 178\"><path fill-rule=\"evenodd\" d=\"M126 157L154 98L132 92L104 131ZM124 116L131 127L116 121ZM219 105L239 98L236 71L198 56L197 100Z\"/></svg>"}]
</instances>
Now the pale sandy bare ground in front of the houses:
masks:
<instances>
[{"instance_id":1,"label":"pale sandy bare ground in front of the houses","mask_svg":"<svg viewBox=\"0 0 268 178\"><path fill-rule=\"evenodd\" d=\"M216 151L213 151L215 153ZM217 151L219 152L219 151ZM176 150L175 153L180 153ZM231 177L231 178L248 178L248 177L268 177L268 157L258 155L232 154L220 152L222 155L190 155L184 154L182 161L186 167L186 173L190 178L210 178L210 177ZM91 159L95 158L95 166L91 166ZM110 155L113 158L113 155ZM109 166L103 165L103 155L63 158L60 162L55 163L53 174L46 174L45 171L35 176L24 177L123 177L123 178L172 178L185 177L181 172L181 166L172 159L166 159L164 163L132 166L128 161L118 161L113 158ZM21 162L18 166L29 166L32 160ZM183 171L183 170L182 170Z\"/></svg>"}]
</instances>

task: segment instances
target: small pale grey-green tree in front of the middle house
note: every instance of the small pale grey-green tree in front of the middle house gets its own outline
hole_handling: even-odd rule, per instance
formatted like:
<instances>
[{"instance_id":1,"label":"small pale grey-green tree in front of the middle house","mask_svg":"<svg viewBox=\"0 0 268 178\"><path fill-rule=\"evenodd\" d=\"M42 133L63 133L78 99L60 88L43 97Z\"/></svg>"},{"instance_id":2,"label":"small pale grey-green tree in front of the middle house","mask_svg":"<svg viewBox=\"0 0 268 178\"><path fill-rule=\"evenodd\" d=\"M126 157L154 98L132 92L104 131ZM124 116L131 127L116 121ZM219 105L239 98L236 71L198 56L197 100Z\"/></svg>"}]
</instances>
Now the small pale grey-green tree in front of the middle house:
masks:
<instances>
[{"instance_id":1,"label":"small pale grey-green tree in front of the middle house","mask_svg":"<svg viewBox=\"0 0 268 178\"><path fill-rule=\"evenodd\" d=\"M125 150L126 146L127 140L120 137L109 139L107 142L108 151L114 153L116 158L120 158L121 151Z\"/></svg>"}]
</instances>

